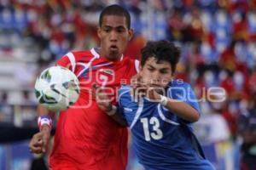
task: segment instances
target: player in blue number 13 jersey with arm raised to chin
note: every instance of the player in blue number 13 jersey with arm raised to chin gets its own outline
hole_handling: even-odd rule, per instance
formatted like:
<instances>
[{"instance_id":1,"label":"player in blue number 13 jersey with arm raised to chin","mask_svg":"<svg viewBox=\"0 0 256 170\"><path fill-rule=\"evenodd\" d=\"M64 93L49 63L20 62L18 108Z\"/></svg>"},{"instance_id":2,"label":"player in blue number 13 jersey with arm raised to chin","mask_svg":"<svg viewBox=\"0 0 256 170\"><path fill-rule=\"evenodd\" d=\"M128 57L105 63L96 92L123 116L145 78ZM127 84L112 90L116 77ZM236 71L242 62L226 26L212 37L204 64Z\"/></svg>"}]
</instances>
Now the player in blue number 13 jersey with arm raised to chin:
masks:
<instances>
[{"instance_id":1,"label":"player in blue number 13 jersey with arm raised to chin","mask_svg":"<svg viewBox=\"0 0 256 170\"><path fill-rule=\"evenodd\" d=\"M172 42L148 42L135 82L119 89L119 111L108 105L106 96L102 102L104 95L97 99L109 116L130 127L146 170L214 169L191 127L200 118L195 94L188 83L172 79L179 56Z\"/></svg>"}]
</instances>

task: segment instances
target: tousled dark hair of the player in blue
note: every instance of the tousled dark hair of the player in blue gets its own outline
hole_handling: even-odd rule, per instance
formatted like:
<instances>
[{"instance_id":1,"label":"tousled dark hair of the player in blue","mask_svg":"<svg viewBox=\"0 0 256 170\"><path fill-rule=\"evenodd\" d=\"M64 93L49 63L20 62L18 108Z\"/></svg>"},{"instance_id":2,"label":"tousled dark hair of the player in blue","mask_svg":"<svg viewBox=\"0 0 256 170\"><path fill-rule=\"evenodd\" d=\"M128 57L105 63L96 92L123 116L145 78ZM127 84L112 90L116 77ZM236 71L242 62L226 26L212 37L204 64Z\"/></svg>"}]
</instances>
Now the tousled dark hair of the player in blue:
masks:
<instances>
[{"instance_id":1,"label":"tousled dark hair of the player in blue","mask_svg":"<svg viewBox=\"0 0 256 170\"><path fill-rule=\"evenodd\" d=\"M176 71L176 65L180 58L180 48L177 48L173 42L166 40L150 41L141 50L141 65L145 65L146 61L154 57L157 62L167 61L172 67L172 73Z\"/></svg>"}]
</instances>

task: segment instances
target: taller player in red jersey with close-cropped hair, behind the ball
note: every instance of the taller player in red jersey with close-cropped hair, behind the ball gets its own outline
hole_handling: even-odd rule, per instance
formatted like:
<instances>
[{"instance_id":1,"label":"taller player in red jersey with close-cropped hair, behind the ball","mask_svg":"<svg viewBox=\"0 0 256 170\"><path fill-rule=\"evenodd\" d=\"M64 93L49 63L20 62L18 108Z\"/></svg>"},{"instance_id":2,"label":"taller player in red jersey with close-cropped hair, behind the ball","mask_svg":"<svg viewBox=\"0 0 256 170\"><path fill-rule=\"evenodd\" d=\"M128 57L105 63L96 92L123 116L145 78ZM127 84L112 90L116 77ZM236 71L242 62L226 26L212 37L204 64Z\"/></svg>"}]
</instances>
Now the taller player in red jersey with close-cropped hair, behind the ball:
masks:
<instances>
[{"instance_id":1,"label":"taller player in red jersey with close-cropped hair, behind the ball","mask_svg":"<svg viewBox=\"0 0 256 170\"><path fill-rule=\"evenodd\" d=\"M100 15L100 48L68 53L57 65L73 71L80 82L78 101L62 111L56 127L55 142L49 158L53 170L123 170L127 162L127 131L100 110L92 94L96 83L105 87L116 102L117 89L137 73L137 60L123 56L133 31L130 14L119 5L105 8ZM38 106L40 132L30 150L44 153L49 143L53 113Z\"/></svg>"}]
</instances>

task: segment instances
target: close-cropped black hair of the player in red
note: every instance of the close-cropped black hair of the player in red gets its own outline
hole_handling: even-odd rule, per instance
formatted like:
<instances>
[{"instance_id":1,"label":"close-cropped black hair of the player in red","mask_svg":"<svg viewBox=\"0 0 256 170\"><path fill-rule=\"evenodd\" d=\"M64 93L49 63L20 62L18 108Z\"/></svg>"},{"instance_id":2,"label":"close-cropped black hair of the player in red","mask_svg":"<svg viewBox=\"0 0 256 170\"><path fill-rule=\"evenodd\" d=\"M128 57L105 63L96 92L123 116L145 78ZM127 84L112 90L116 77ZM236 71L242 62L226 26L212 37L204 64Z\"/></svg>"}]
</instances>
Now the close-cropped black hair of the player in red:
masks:
<instances>
[{"instance_id":1,"label":"close-cropped black hair of the player in red","mask_svg":"<svg viewBox=\"0 0 256 170\"><path fill-rule=\"evenodd\" d=\"M100 20L99 25L102 26L102 20L105 15L117 15L117 16L124 16L126 19L126 25L128 29L131 27L131 15L129 12L121 7L118 4L110 5L102 10L102 13L100 14Z\"/></svg>"}]
</instances>

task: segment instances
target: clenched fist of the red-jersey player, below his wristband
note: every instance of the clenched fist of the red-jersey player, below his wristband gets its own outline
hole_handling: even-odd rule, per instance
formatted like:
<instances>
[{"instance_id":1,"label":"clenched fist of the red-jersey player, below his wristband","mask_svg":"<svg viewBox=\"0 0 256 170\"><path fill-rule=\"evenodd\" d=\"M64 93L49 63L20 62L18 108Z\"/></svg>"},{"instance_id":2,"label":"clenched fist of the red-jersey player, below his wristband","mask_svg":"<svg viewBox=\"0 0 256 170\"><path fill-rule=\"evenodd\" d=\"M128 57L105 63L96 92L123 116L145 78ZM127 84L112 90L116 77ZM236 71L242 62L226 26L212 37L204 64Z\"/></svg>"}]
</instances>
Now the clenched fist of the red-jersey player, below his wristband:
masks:
<instances>
[{"instance_id":1,"label":"clenched fist of the red-jersey player, below his wristband","mask_svg":"<svg viewBox=\"0 0 256 170\"><path fill-rule=\"evenodd\" d=\"M49 137L49 126L43 125L41 131L39 133L34 134L29 143L30 152L35 154L45 153L48 150Z\"/></svg>"}]
</instances>

